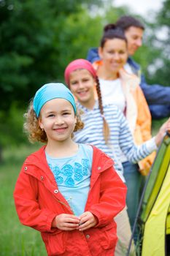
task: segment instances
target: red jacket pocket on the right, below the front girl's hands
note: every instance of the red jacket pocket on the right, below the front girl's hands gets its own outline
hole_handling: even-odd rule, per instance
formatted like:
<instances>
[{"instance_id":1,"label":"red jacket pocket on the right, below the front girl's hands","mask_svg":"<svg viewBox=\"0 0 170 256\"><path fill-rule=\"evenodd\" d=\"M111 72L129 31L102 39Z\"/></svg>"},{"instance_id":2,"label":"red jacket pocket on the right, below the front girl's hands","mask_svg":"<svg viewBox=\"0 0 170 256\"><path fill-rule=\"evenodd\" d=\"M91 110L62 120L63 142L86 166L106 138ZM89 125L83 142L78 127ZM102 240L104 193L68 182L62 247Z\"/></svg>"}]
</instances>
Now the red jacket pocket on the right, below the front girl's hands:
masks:
<instances>
[{"instance_id":1,"label":"red jacket pocket on the right, below the front girl's hands","mask_svg":"<svg viewBox=\"0 0 170 256\"><path fill-rule=\"evenodd\" d=\"M103 249L113 249L117 243L116 224L110 223L100 228L100 244Z\"/></svg>"}]
</instances>

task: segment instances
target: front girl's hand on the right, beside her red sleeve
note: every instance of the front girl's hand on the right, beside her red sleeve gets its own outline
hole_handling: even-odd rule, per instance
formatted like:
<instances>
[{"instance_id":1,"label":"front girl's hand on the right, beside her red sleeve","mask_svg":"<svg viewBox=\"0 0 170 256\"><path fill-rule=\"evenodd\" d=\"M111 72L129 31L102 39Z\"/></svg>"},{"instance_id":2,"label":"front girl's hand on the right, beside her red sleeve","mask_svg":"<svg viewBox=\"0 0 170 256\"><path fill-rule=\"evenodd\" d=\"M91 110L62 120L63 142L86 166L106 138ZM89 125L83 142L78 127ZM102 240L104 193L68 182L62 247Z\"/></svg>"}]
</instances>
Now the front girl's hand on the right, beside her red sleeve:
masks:
<instances>
[{"instance_id":1,"label":"front girl's hand on the right, beside her red sleeve","mask_svg":"<svg viewBox=\"0 0 170 256\"><path fill-rule=\"evenodd\" d=\"M90 211L85 211L82 215L80 215L80 225L77 229L84 231L90 227L96 226L97 223L97 217L95 217Z\"/></svg>"}]
</instances>

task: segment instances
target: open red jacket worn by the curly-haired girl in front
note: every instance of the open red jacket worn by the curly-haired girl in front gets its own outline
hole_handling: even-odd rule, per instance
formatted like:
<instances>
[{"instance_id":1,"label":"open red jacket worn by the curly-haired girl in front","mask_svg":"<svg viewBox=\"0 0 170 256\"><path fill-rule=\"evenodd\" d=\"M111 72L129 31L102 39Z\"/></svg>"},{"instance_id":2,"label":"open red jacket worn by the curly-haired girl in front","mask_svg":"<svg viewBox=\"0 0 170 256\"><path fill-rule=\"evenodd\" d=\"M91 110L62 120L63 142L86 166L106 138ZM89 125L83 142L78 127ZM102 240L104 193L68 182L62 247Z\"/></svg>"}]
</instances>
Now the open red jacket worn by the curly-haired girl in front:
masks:
<instances>
[{"instance_id":1,"label":"open red jacket worn by the curly-haired girl in front","mask_svg":"<svg viewBox=\"0 0 170 256\"><path fill-rule=\"evenodd\" d=\"M42 234L48 255L113 255L117 242L115 217L125 207L126 187L112 167L112 159L93 147L90 191L85 211L98 218L98 225L84 232L52 228L58 214L73 214L47 165L45 146L23 163L14 198L23 225Z\"/></svg>"}]
</instances>

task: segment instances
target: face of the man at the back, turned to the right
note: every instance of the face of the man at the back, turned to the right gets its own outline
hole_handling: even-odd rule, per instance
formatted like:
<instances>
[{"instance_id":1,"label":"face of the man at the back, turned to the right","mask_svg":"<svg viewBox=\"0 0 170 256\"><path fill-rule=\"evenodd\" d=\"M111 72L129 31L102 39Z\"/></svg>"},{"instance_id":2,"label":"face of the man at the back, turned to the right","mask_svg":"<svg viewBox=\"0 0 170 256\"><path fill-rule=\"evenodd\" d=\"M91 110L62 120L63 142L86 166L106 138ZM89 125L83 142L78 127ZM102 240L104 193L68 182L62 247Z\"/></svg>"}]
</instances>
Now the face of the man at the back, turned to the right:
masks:
<instances>
[{"instance_id":1,"label":"face of the man at the back, turned to the right","mask_svg":"<svg viewBox=\"0 0 170 256\"><path fill-rule=\"evenodd\" d=\"M133 56L136 50L142 46L144 30L135 26L130 26L125 30L125 37L128 40L128 54Z\"/></svg>"}]
</instances>

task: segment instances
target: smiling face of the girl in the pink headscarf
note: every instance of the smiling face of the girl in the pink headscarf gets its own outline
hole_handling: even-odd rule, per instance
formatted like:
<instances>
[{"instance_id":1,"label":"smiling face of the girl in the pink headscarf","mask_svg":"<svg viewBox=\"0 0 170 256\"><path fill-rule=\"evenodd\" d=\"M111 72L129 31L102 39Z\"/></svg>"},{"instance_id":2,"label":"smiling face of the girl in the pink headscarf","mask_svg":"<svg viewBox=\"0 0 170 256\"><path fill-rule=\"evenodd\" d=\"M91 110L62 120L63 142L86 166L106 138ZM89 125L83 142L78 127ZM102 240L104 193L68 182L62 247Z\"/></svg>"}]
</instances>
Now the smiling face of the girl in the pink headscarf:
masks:
<instances>
[{"instance_id":1,"label":"smiling face of the girl in the pink headscarf","mask_svg":"<svg viewBox=\"0 0 170 256\"><path fill-rule=\"evenodd\" d=\"M95 79L87 69L77 69L70 74L69 86L82 105L89 105L95 102L94 85Z\"/></svg>"}]
</instances>

